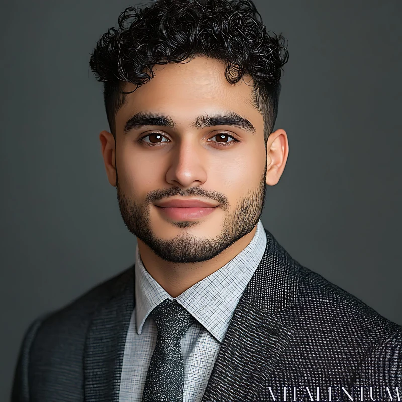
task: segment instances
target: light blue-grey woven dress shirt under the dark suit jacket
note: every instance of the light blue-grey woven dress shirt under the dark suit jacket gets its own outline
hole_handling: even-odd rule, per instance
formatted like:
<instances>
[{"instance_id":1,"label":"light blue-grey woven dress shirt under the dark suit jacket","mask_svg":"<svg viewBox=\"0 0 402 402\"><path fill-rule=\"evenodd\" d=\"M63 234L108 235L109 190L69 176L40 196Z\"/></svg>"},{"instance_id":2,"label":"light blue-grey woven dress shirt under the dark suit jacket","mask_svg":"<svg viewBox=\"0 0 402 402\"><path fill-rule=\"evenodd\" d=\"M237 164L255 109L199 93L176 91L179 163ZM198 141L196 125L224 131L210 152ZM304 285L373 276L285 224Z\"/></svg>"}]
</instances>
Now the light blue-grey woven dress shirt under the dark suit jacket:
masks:
<instances>
[{"instance_id":1,"label":"light blue-grey woven dress shirt under the dark suit jacket","mask_svg":"<svg viewBox=\"0 0 402 402\"><path fill-rule=\"evenodd\" d=\"M267 237L261 220L248 246L225 266L175 299L197 320L181 339L184 360L183 402L199 402L240 297L257 269ZM157 329L149 313L173 300L145 269L136 248L135 308L131 315L120 378L120 402L141 402L156 345Z\"/></svg>"}]
</instances>

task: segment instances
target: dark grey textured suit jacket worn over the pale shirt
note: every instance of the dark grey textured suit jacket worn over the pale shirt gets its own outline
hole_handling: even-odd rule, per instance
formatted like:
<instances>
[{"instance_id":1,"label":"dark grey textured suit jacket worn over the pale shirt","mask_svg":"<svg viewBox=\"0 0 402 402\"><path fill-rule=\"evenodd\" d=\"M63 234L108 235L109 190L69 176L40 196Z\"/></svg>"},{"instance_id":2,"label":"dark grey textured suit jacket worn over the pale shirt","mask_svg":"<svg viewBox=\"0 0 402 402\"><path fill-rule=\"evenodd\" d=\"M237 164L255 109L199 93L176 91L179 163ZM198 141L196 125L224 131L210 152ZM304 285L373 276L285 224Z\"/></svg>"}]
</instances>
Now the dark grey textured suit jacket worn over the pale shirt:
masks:
<instances>
[{"instance_id":1,"label":"dark grey textured suit jacket worn over the pale shirt","mask_svg":"<svg viewBox=\"0 0 402 402\"><path fill-rule=\"evenodd\" d=\"M283 400L283 386L300 386L298 400L305 387L317 386L321 400L329 386L375 386L374 395L386 386L394 395L398 386L402 396L402 327L300 265L265 231L264 256L234 312L203 402L268 401L278 391ZM132 266L35 320L21 346L12 401L118 402L133 308Z\"/></svg>"}]
</instances>

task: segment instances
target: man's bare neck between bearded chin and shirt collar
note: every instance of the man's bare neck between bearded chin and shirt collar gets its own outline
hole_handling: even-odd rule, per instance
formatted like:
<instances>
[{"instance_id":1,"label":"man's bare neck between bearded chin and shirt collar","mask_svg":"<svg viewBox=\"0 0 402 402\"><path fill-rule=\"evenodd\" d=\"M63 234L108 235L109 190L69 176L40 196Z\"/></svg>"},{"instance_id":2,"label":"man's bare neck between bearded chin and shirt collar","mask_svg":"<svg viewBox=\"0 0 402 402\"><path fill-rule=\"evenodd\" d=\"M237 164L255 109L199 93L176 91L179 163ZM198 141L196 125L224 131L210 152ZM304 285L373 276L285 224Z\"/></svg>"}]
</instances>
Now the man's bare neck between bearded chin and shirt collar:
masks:
<instances>
[{"instance_id":1,"label":"man's bare neck between bearded chin and shirt collar","mask_svg":"<svg viewBox=\"0 0 402 402\"><path fill-rule=\"evenodd\" d=\"M177 297L191 286L225 266L243 251L253 239L257 225L247 235L237 240L214 258L188 264L168 262L157 256L142 240L137 238L141 260L148 273L169 293Z\"/></svg>"}]
</instances>

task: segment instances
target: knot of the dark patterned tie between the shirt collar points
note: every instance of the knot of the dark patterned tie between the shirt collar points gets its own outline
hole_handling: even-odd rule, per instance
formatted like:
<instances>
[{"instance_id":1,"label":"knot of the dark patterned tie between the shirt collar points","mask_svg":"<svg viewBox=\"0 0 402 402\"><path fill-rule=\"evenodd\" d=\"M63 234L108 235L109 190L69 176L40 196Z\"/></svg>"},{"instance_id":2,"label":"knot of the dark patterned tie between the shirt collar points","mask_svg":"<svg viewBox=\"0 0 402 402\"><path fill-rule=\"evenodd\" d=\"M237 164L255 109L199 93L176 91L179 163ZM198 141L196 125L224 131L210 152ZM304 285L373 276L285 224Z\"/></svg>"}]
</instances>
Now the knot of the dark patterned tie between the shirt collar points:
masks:
<instances>
[{"instance_id":1,"label":"knot of the dark patterned tie between the shirt collar points","mask_svg":"<svg viewBox=\"0 0 402 402\"><path fill-rule=\"evenodd\" d=\"M151 316L158 330L158 337L179 340L195 322L194 317L176 300L168 298L156 306Z\"/></svg>"}]
</instances>

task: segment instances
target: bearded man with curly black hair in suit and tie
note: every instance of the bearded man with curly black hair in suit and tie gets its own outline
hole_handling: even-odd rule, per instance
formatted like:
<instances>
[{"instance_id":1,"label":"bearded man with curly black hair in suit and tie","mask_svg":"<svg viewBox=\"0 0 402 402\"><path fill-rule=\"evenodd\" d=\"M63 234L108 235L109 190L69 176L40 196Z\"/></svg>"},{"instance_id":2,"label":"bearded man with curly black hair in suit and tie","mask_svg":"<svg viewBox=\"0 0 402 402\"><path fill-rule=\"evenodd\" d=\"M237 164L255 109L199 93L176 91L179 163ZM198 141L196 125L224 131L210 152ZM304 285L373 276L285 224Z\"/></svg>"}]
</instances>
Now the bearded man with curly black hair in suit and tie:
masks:
<instances>
[{"instance_id":1,"label":"bearded man with curly black hair in suit and tie","mask_svg":"<svg viewBox=\"0 0 402 402\"><path fill-rule=\"evenodd\" d=\"M402 328L260 221L289 152L273 131L287 56L249 1L129 7L99 40L135 264L32 323L13 401L400 400Z\"/></svg>"}]
</instances>

